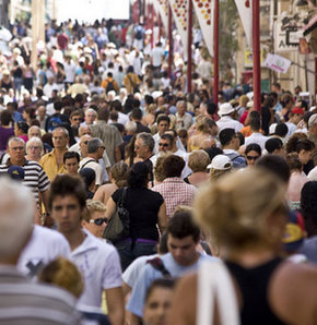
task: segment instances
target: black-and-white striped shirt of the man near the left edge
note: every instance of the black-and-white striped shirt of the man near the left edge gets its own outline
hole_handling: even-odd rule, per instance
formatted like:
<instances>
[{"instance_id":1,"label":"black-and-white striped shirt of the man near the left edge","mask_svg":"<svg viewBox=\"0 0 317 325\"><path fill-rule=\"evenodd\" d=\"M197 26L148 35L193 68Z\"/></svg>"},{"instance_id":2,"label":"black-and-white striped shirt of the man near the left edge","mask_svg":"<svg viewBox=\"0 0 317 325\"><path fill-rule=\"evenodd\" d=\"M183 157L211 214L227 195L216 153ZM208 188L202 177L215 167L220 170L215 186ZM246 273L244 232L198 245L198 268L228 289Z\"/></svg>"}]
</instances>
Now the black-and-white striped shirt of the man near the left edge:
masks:
<instances>
[{"instance_id":1,"label":"black-and-white striped shirt of the man near the left edge","mask_svg":"<svg viewBox=\"0 0 317 325\"><path fill-rule=\"evenodd\" d=\"M8 173L10 166L12 166L10 159L8 159L5 165L0 165L0 174ZM31 189L36 203L38 203L38 192L43 193L48 190L49 179L42 166L36 161L25 160L24 165L21 167L24 169L24 180L22 184Z\"/></svg>"}]
</instances>

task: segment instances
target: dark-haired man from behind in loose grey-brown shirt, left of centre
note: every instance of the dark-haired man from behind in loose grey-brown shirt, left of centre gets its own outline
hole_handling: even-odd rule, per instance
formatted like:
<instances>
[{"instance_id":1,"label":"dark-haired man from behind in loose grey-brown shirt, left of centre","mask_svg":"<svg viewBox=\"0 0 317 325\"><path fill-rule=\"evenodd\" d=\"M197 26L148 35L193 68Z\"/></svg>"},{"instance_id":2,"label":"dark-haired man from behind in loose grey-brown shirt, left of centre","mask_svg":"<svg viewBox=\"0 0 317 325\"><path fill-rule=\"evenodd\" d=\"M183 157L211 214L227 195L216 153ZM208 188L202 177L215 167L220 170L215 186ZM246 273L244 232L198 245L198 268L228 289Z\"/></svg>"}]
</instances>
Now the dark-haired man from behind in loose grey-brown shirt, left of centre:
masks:
<instances>
[{"instance_id":1,"label":"dark-haired man from behind in loose grey-brown shirt, left of centre","mask_svg":"<svg viewBox=\"0 0 317 325\"><path fill-rule=\"evenodd\" d=\"M97 123L93 124L91 130L94 137L98 137L104 142L110 165L114 165L116 161L121 160L119 145L122 143L122 139L116 127L107 124L108 119L109 111L106 108L101 108Z\"/></svg>"}]
</instances>

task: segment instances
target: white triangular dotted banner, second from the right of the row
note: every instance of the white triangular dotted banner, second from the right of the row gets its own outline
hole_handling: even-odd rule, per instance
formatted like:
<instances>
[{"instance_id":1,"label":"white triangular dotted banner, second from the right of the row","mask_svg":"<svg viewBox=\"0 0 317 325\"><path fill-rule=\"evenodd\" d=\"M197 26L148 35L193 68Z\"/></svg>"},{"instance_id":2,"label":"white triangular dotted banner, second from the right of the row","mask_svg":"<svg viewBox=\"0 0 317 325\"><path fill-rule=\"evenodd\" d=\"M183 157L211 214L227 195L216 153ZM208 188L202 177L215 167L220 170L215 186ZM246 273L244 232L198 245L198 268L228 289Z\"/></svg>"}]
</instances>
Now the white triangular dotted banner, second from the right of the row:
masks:
<instances>
[{"instance_id":1,"label":"white triangular dotted banner, second from the right of the row","mask_svg":"<svg viewBox=\"0 0 317 325\"><path fill-rule=\"evenodd\" d=\"M213 14L214 0L193 0L193 8L198 19L204 44L213 57Z\"/></svg>"}]
</instances>

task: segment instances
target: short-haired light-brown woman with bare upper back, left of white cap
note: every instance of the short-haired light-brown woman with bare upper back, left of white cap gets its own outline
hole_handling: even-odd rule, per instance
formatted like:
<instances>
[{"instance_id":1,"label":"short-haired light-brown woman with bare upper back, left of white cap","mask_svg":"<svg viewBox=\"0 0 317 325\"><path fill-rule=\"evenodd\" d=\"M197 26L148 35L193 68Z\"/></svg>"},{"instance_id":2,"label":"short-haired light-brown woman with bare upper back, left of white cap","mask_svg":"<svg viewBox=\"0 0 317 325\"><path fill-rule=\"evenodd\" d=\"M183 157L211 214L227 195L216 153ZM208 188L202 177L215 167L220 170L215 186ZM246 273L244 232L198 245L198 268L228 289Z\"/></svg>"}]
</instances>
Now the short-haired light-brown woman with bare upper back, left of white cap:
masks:
<instances>
[{"instance_id":1,"label":"short-haired light-brown woman with bare upper back, left of white cap","mask_svg":"<svg viewBox=\"0 0 317 325\"><path fill-rule=\"evenodd\" d=\"M199 186L209 181L207 167L210 164L209 155L204 151L195 151L189 155L188 167L192 173L184 179L188 184Z\"/></svg>"}]
</instances>

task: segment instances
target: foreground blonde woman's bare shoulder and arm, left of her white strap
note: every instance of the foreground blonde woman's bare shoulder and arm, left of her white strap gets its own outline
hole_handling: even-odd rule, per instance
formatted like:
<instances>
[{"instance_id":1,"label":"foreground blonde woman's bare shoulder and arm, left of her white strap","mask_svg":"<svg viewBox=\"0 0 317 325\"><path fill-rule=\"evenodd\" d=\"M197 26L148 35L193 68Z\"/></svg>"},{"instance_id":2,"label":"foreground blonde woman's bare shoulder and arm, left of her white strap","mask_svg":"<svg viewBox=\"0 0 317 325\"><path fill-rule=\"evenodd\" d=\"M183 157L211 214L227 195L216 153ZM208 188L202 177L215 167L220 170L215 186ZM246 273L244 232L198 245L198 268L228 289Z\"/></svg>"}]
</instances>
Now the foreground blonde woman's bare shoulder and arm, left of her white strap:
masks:
<instances>
[{"instance_id":1,"label":"foreground blonde woman's bare shoulder and arm, left of her white strap","mask_svg":"<svg viewBox=\"0 0 317 325\"><path fill-rule=\"evenodd\" d=\"M197 282L197 274L179 279L174 293L168 325L196 324Z\"/></svg>"}]
</instances>

